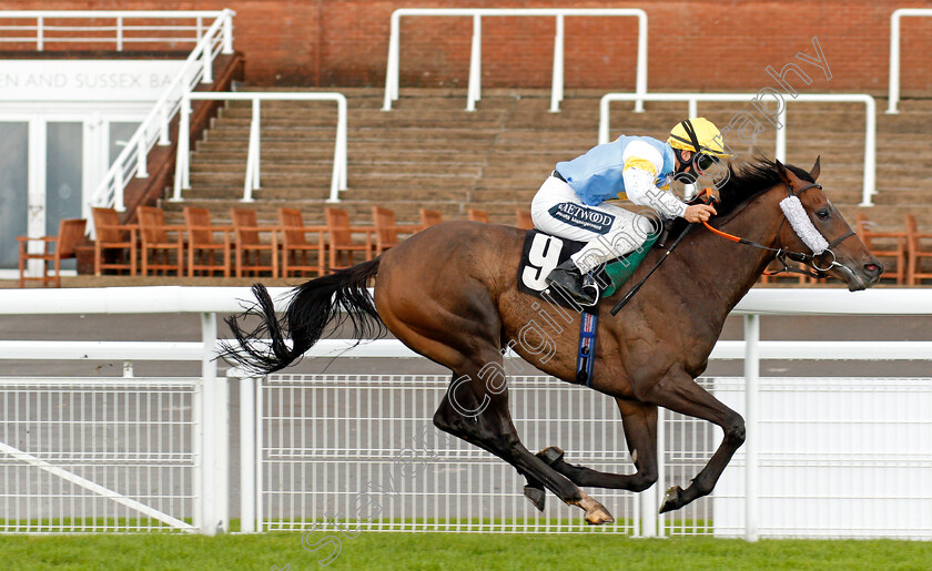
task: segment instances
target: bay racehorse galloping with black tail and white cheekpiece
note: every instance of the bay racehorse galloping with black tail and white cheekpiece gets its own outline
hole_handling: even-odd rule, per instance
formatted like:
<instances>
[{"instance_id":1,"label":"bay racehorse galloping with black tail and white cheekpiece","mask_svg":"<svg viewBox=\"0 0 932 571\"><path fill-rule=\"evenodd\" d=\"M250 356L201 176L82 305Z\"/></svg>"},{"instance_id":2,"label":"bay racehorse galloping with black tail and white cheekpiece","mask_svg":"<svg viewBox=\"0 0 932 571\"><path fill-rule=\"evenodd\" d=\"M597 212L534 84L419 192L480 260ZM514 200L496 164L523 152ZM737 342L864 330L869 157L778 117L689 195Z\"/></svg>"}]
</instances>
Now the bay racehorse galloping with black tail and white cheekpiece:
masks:
<instances>
[{"instance_id":1,"label":"bay racehorse galloping with black tail and white cheekpiece","mask_svg":"<svg viewBox=\"0 0 932 571\"><path fill-rule=\"evenodd\" d=\"M387 327L406 346L453 371L434 415L440 430L514 466L527 478L525 492L539 509L546 488L585 510L589 523L611 522L612 517L579 487L640 491L657 481L657 407L715 422L725 431L718 450L686 489L675 487L663 499L661 511L678 509L712 491L744 440L741 416L695 379L706 369L729 312L766 266L789 253L852 292L880 279L880 263L825 197L818 175L818 160L810 172L762 159L729 166L710 227L718 233L695 228L618 315L607 308L625 287L602 302L591 388L616 400L635 473L568 463L556 447L535 455L518 438L508 411L504 349L510 346L540 370L573 383L580 320L576 312L554 312L559 329L544 330L540 304L517 288L525 239L518 228L472 222L429 227L371 262L297 286L281 318L265 287L256 284L259 304L227 319L235 341L225 344L222 355L253 371L271 373L298 359L328 324L350 319L357 339ZM799 215L812 223L809 230L814 226L829 244L820 255L787 223L780 202L792 195L804 210ZM650 252L630 283L663 254ZM366 284L376 274L371 297ZM260 320L253 330L241 326L250 314ZM528 327L531 323L538 327Z\"/></svg>"}]
</instances>

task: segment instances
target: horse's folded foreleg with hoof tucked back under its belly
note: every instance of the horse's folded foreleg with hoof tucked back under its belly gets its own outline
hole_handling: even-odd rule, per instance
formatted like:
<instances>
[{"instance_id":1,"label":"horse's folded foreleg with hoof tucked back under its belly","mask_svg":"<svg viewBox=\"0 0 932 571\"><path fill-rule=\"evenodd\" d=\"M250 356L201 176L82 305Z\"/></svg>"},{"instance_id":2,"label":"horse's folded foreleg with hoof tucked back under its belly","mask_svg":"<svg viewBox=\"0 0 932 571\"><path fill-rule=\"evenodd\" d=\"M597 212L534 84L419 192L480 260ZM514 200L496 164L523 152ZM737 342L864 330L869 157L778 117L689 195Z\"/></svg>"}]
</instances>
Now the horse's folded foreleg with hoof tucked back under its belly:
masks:
<instances>
[{"instance_id":1,"label":"horse's folded foreleg with hoof tucked back under its belly","mask_svg":"<svg viewBox=\"0 0 932 571\"><path fill-rule=\"evenodd\" d=\"M657 482L657 407L635 400L616 399L621 411L625 439L637 472L609 473L564 461L563 450L549 447L537 453L555 470L577 486L644 491Z\"/></svg>"}]
</instances>

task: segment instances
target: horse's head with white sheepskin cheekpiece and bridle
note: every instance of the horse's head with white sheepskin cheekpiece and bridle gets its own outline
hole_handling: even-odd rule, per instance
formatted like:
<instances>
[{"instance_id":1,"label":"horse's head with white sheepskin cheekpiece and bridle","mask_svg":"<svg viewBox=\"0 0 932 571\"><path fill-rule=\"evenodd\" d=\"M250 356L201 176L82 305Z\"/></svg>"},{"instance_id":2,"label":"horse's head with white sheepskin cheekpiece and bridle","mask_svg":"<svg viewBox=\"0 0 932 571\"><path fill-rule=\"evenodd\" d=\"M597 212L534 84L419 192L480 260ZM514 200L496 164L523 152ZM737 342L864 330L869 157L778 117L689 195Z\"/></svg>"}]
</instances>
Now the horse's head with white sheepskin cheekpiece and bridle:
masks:
<instances>
[{"instance_id":1,"label":"horse's head with white sheepskin cheekpiece and bridle","mask_svg":"<svg viewBox=\"0 0 932 571\"><path fill-rule=\"evenodd\" d=\"M812 181L797 176L779 161L776 164L787 186L788 195L780 206L789 221L780 227L778 247L784 252L806 254L796 258L841 279L851 292L867 289L880 282L883 272L880 261L851 231L838 208L825 197L822 186L816 183L820 171L819 159L809 172ZM794 258L794 255L788 254L788 257Z\"/></svg>"}]
</instances>

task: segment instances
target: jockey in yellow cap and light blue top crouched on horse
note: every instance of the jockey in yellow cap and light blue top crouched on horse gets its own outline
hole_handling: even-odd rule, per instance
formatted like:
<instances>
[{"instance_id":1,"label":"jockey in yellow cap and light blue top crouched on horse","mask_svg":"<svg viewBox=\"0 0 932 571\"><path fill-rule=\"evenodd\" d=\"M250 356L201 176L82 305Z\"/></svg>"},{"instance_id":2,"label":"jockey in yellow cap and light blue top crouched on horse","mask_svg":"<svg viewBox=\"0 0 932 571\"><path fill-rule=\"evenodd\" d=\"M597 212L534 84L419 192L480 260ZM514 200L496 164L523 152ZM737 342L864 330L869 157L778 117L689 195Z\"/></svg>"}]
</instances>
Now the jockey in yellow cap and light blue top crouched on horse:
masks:
<instances>
[{"instance_id":1,"label":"jockey in yellow cap and light blue top crouched on horse","mask_svg":"<svg viewBox=\"0 0 932 571\"><path fill-rule=\"evenodd\" d=\"M547 282L561 286L581 305L595 305L599 289L592 272L659 232L650 217L605 201L617 196L666 218L708 221L716 214L711 205L688 206L671 186L695 183L726 156L731 155L718 128L705 118L692 118L678 123L667 142L621 135L573 161L557 163L531 202L534 226L587 244L550 272Z\"/></svg>"}]
</instances>

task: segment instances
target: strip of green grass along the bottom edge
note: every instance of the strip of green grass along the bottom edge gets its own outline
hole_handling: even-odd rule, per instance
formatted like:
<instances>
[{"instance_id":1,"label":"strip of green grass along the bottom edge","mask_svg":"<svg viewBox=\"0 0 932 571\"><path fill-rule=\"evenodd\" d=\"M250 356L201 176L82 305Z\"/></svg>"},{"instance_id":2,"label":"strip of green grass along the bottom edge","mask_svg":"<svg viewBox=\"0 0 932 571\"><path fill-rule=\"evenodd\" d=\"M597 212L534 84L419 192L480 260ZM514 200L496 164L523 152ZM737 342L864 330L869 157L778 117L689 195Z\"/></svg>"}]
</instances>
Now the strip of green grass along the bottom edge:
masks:
<instances>
[{"instance_id":1,"label":"strip of green grass along the bottom edge","mask_svg":"<svg viewBox=\"0 0 932 571\"><path fill-rule=\"evenodd\" d=\"M333 533L308 534L307 544ZM302 547L302 536L0 536L3 569L883 569L932 568L932 542L630 539L602 534L364 532L336 534L341 552Z\"/></svg>"}]
</instances>

